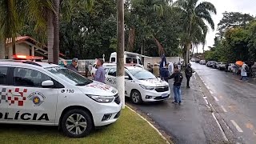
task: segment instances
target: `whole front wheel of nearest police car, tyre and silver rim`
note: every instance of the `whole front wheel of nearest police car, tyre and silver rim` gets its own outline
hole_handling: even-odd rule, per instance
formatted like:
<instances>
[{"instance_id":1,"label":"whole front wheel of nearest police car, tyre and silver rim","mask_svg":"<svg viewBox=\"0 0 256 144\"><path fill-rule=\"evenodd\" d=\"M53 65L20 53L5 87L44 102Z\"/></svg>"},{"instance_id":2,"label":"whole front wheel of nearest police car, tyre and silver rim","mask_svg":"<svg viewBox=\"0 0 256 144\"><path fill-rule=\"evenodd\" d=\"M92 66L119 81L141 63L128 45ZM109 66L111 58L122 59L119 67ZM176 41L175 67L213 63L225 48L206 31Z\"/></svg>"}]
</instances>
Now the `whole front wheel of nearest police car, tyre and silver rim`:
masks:
<instances>
[{"instance_id":1,"label":"whole front wheel of nearest police car, tyre and silver rim","mask_svg":"<svg viewBox=\"0 0 256 144\"><path fill-rule=\"evenodd\" d=\"M63 133L71 138L82 138L90 133L93 122L84 110L70 110L62 118Z\"/></svg>"}]
</instances>

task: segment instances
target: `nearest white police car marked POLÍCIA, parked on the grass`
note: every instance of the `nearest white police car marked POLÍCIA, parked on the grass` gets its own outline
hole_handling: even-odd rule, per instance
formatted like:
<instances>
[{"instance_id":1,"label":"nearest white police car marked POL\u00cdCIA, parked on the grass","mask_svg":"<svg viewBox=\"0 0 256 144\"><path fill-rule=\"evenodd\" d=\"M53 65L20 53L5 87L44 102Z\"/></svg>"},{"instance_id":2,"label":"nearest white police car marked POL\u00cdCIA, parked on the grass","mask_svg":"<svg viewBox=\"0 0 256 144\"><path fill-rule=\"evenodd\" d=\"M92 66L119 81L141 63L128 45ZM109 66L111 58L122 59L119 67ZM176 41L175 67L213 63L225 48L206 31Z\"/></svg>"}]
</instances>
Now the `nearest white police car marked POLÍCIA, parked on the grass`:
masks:
<instances>
[{"instance_id":1,"label":"nearest white police car marked POL\u00cdCIA, parked on the grass","mask_svg":"<svg viewBox=\"0 0 256 144\"><path fill-rule=\"evenodd\" d=\"M116 122L121 106L116 89L62 66L0 60L0 123L59 126L81 138Z\"/></svg>"}]
</instances>

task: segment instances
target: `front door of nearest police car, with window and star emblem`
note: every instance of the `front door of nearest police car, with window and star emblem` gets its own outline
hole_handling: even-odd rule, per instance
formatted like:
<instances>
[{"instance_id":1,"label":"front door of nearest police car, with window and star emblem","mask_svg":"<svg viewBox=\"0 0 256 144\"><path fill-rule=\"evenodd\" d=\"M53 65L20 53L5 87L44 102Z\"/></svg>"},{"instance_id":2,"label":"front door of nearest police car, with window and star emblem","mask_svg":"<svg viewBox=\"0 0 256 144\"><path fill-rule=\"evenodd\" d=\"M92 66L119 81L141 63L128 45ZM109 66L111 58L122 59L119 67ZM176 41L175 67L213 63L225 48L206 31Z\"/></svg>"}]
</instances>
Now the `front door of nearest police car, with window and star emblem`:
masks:
<instances>
[{"instance_id":1,"label":"front door of nearest police car, with window and star emblem","mask_svg":"<svg viewBox=\"0 0 256 144\"><path fill-rule=\"evenodd\" d=\"M58 89L42 87L42 82L53 79L34 69L13 67L12 70L9 122L54 124Z\"/></svg>"}]
</instances>

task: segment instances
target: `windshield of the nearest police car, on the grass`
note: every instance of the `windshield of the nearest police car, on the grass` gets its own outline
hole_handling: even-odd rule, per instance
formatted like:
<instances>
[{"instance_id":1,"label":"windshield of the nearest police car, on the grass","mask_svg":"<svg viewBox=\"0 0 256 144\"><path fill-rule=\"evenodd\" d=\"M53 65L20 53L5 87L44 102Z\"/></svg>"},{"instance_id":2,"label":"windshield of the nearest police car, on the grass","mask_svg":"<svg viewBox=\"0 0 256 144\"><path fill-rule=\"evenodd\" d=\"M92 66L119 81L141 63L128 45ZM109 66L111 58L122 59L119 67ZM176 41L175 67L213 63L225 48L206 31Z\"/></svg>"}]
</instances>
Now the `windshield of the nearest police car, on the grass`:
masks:
<instances>
[{"instance_id":1,"label":"windshield of the nearest police car, on the grass","mask_svg":"<svg viewBox=\"0 0 256 144\"><path fill-rule=\"evenodd\" d=\"M62 78L66 82L76 86L86 86L93 82L92 80L84 78L80 74L77 74L74 71L64 67L51 67L46 68L46 70L50 71L52 74L57 75L59 78Z\"/></svg>"}]
</instances>

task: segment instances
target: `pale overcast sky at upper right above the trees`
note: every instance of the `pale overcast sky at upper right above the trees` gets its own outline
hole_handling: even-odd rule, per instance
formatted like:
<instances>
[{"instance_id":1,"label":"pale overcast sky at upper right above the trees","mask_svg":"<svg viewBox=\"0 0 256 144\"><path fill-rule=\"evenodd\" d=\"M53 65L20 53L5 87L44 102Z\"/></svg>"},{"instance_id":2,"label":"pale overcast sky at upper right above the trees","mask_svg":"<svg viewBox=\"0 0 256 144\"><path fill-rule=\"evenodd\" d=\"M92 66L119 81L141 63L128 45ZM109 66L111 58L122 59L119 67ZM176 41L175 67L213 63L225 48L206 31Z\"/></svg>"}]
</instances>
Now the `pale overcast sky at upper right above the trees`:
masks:
<instances>
[{"instance_id":1,"label":"pale overcast sky at upper right above the trees","mask_svg":"<svg viewBox=\"0 0 256 144\"><path fill-rule=\"evenodd\" d=\"M202 1L202 0L201 0ZM205 49L208 46L214 44L214 38L216 34L216 29L218 22L222 19L222 13L225 11L242 12L246 14L256 15L256 0L205 0L206 2L211 2L217 9L217 15L214 15L215 31L210 30L206 37ZM202 52L202 46L198 48L198 52Z\"/></svg>"}]
</instances>

